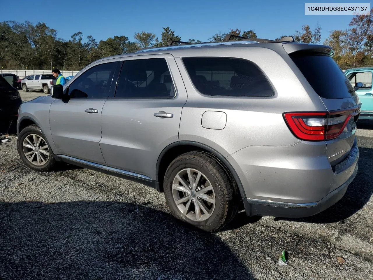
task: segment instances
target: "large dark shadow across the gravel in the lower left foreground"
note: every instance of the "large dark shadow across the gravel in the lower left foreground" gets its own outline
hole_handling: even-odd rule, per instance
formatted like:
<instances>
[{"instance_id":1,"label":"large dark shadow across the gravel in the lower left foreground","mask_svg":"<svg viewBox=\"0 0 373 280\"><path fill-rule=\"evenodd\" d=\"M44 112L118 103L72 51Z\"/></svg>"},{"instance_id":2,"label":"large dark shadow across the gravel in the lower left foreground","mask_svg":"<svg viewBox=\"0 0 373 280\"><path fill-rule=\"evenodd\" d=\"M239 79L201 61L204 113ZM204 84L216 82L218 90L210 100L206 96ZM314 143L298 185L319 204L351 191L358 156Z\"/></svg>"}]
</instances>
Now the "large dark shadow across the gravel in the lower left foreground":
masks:
<instances>
[{"instance_id":1,"label":"large dark shadow across the gravel in the lower left foreground","mask_svg":"<svg viewBox=\"0 0 373 280\"><path fill-rule=\"evenodd\" d=\"M0 279L254 279L215 234L149 206L0 201Z\"/></svg>"}]
</instances>

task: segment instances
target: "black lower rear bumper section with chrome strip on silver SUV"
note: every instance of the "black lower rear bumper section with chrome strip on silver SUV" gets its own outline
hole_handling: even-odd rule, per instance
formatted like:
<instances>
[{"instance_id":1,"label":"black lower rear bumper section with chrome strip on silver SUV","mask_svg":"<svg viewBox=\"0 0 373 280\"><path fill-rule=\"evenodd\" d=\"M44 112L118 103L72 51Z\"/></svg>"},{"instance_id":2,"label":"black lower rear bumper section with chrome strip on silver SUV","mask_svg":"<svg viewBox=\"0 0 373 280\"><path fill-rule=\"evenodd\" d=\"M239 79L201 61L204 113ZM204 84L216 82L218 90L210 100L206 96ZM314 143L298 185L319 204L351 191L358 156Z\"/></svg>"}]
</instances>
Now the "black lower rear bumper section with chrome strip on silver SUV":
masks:
<instances>
[{"instance_id":1,"label":"black lower rear bumper section with chrome strip on silver SUV","mask_svg":"<svg viewBox=\"0 0 373 280\"><path fill-rule=\"evenodd\" d=\"M321 200L310 203L286 203L270 200L245 198L245 211L248 216L274 216L283 218L301 218L318 214L338 202L346 193L347 187L356 177L358 166L348 180L327 194Z\"/></svg>"}]
</instances>

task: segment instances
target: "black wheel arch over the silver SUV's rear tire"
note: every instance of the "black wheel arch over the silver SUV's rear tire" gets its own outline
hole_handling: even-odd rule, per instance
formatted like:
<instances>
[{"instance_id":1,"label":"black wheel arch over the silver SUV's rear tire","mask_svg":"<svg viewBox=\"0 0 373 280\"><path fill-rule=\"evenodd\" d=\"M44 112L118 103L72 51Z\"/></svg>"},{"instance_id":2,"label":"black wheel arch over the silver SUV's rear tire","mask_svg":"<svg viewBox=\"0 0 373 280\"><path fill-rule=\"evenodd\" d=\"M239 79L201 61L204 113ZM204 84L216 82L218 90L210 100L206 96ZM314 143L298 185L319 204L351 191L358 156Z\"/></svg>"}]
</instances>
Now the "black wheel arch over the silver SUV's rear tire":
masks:
<instances>
[{"instance_id":1,"label":"black wheel arch over the silver SUV's rear tire","mask_svg":"<svg viewBox=\"0 0 373 280\"><path fill-rule=\"evenodd\" d=\"M164 174L166 173L166 169L168 165L175 159L177 156L191 151L198 151L207 153L208 155L212 156L216 159L221 167L225 169L228 176L232 180L232 183L235 183L238 191L241 195L241 198L246 198L244 188L242 186L241 180L239 179L237 172L229 163L229 161L217 150L207 146L206 144L202 144L195 141L178 141L172 144L169 144L165 147L162 152L160 153L157 165L156 165L156 189L159 192L163 192L163 178Z\"/></svg>"}]
</instances>

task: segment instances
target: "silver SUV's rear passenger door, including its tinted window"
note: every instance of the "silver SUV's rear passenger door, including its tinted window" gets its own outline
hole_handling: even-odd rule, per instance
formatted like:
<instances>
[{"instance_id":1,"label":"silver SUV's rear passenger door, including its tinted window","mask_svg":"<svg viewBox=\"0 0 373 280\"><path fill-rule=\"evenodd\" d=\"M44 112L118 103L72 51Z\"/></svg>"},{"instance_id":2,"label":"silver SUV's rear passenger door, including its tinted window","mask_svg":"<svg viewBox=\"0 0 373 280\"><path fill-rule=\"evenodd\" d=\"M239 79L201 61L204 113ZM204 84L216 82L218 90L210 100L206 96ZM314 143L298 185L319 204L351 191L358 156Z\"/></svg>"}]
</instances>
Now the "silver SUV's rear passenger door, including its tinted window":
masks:
<instances>
[{"instance_id":1,"label":"silver SUV's rear passenger door, including its tinted window","mask_svg":"<svg viewBox=\"0 0 373 280\"><path fill-rule=\"evenodd\" d=\"M186 89L172 55L146 57L122 59L115 96L102 111L100 147L110 167L154 180L158 156L178 141Z\"/></svg>"}]
</instances>

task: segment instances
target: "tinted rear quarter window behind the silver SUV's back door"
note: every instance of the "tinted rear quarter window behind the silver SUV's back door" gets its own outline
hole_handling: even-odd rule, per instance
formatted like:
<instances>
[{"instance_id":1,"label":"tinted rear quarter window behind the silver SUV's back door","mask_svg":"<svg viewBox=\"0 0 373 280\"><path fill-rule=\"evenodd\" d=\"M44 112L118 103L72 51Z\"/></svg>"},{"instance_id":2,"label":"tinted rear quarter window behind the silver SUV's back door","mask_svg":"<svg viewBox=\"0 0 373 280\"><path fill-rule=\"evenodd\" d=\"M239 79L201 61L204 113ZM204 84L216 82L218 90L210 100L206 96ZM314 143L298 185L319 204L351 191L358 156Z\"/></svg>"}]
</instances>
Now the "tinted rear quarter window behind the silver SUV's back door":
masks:
<instances>
[{"instance_id":1,"label":"tinted rear quarter window behind the silver SUV's back door","mask_svg":"<svg viewBox=\"0 0 373 280\"><path fill-rule=\"evenodd\" d=\"M200 93L212 96L274 96L269 81L253 62L223 57L185 57L183 62Z\"/></svg>"}]
</instances>

